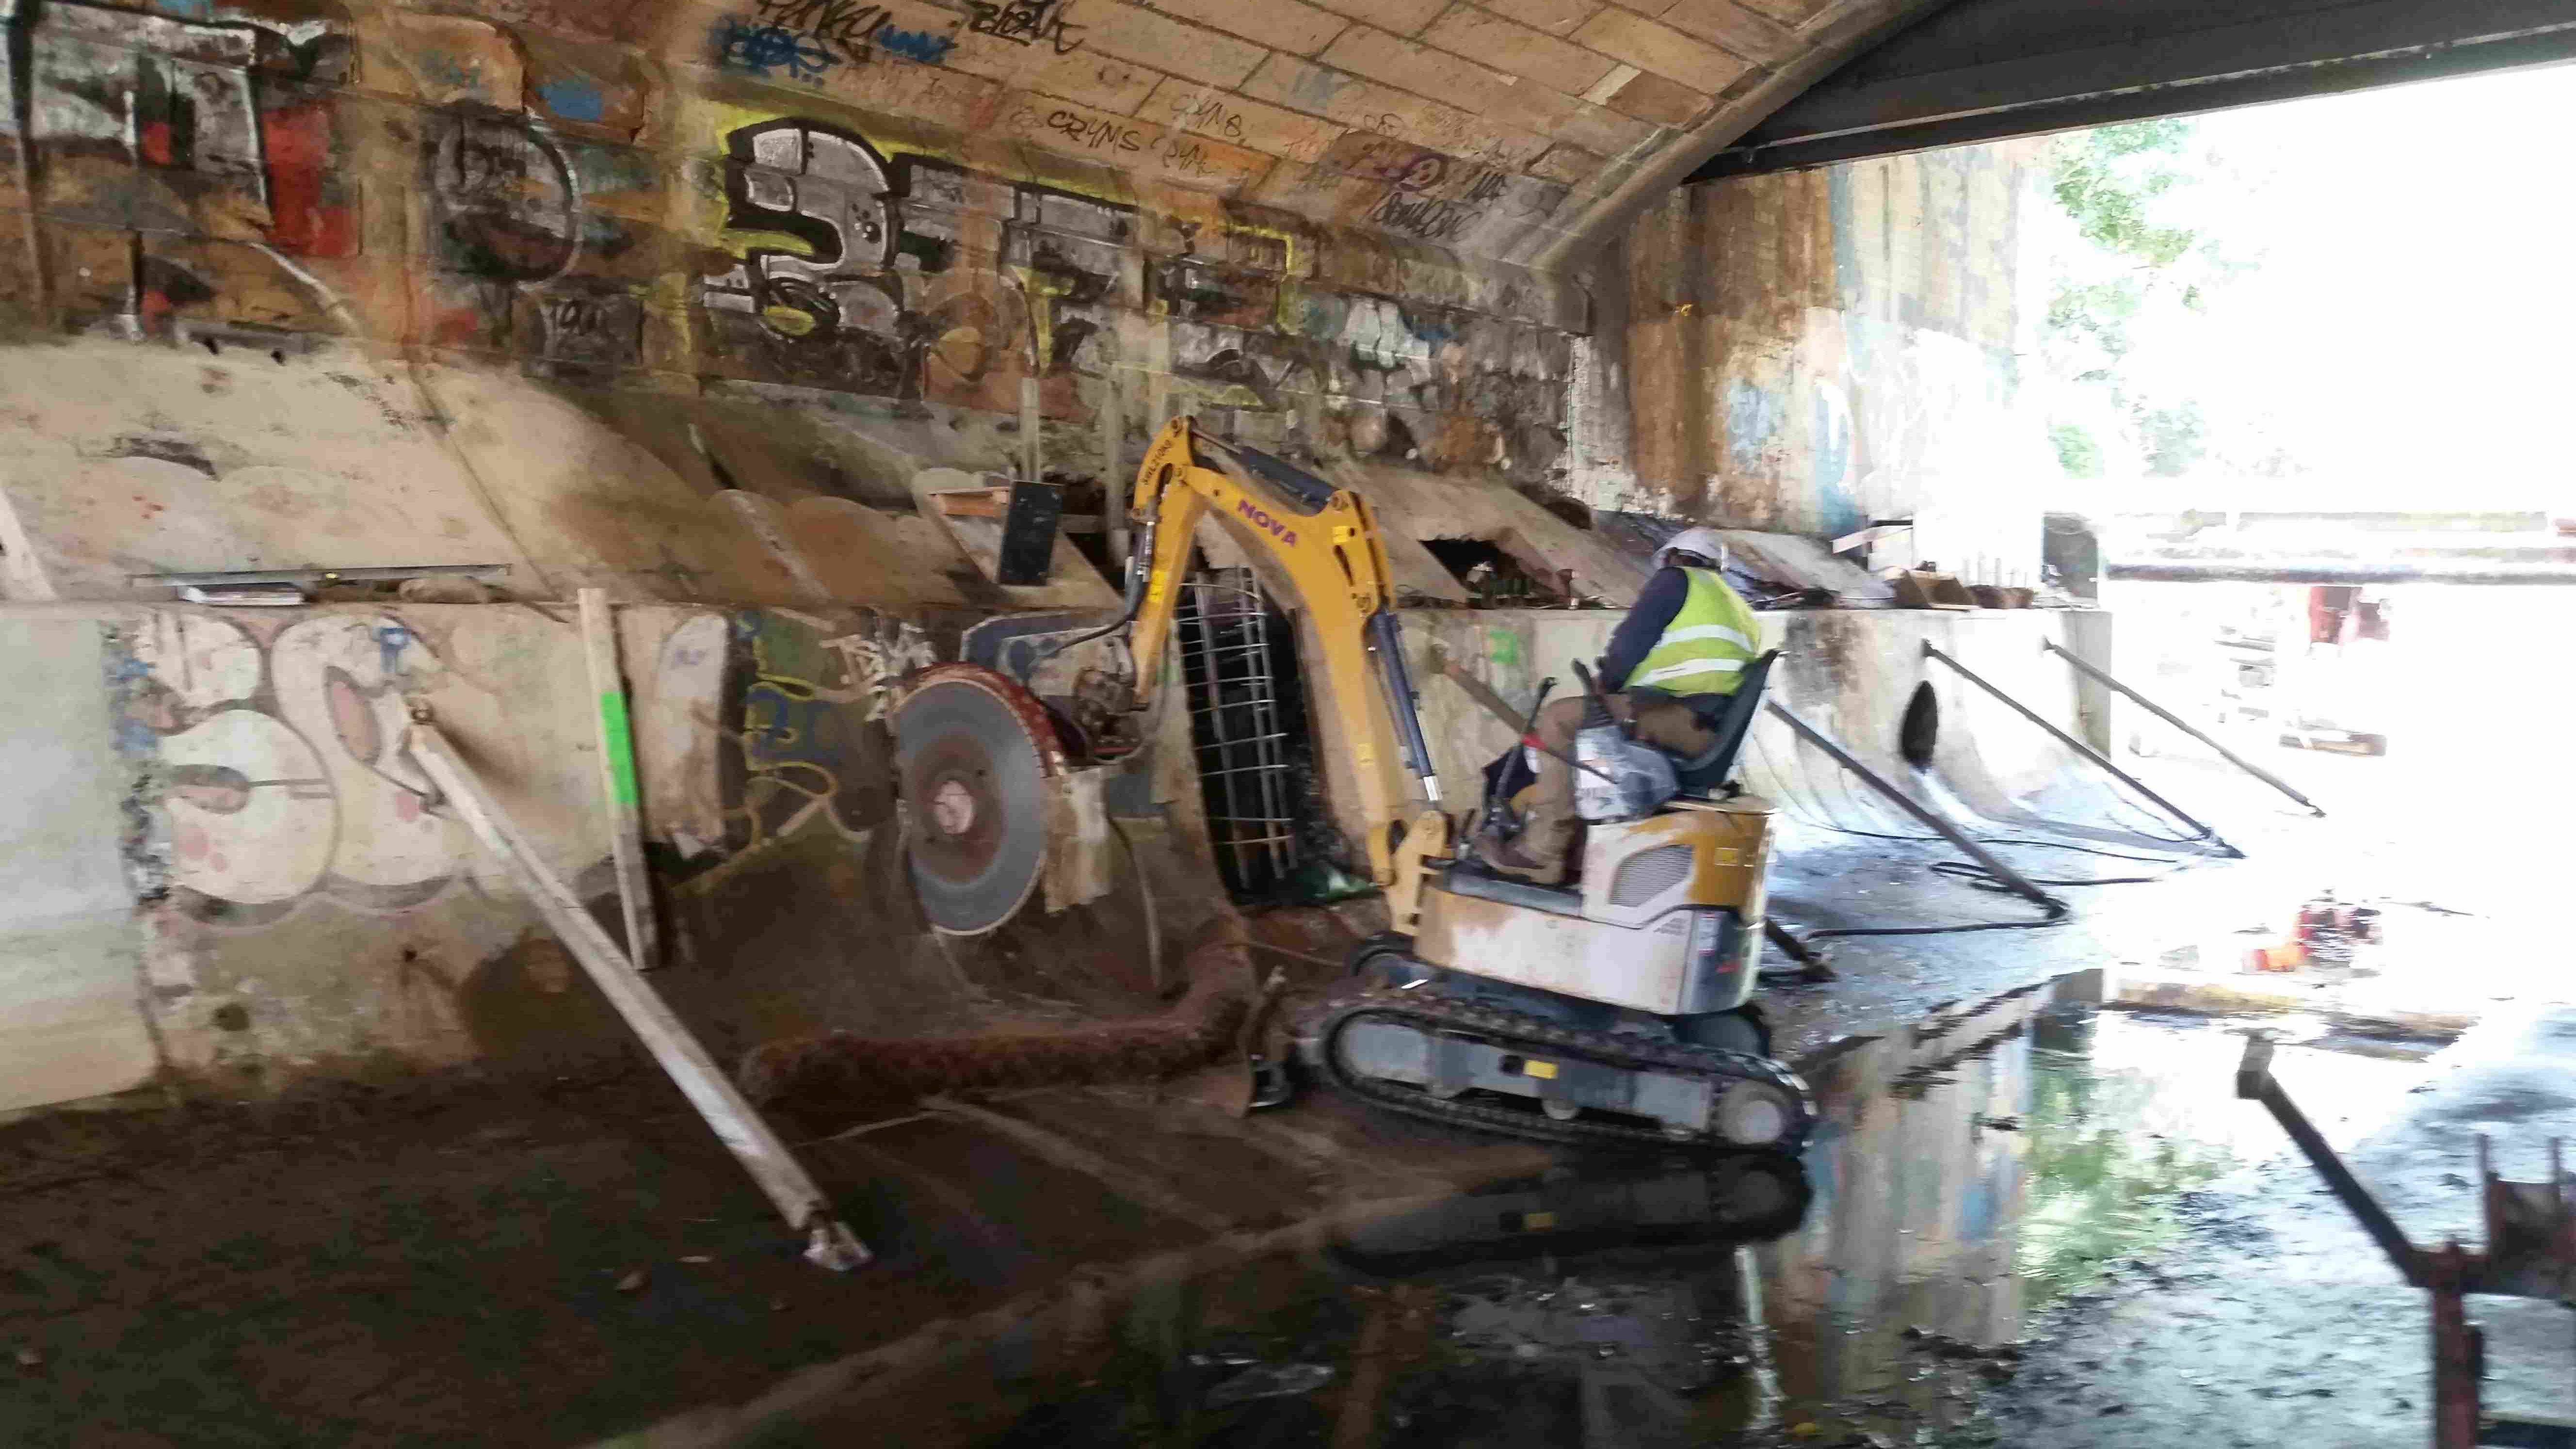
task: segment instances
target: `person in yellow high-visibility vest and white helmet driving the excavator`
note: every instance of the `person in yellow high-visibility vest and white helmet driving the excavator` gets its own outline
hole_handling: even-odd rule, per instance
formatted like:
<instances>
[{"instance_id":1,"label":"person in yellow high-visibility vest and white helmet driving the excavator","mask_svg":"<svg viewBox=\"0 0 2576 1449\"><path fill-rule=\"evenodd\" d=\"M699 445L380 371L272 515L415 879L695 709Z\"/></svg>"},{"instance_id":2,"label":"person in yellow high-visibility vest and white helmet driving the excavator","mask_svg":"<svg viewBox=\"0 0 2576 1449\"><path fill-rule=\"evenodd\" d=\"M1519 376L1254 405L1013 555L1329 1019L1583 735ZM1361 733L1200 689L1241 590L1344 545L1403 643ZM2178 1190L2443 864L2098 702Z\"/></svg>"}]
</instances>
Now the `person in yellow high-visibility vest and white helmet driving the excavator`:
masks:
<instances>
[{"instance_id":1,"label":"person in yellow high-visibility vest and white helmet driving the excavator","mask_svg":"<svg viewBox=\"0 0 2576 1449\"><path fill-rule=\"evenodd\" d=\"M1762 650L1762 621L1726 588L1726 539L1716 529L1682 529L1654 552L1654 578L1610 634L1595 676L1610 714L1628 732L1682 761L1718 743L1695 701L1728 696L1744 665ZM1486 835L1481 856L1499 874L1533 884L1566 879L1574 846L1574 732L1584 722L1582 694L1538 712L1538 786L1520 835Z\"/></svg>"}]
</instances>

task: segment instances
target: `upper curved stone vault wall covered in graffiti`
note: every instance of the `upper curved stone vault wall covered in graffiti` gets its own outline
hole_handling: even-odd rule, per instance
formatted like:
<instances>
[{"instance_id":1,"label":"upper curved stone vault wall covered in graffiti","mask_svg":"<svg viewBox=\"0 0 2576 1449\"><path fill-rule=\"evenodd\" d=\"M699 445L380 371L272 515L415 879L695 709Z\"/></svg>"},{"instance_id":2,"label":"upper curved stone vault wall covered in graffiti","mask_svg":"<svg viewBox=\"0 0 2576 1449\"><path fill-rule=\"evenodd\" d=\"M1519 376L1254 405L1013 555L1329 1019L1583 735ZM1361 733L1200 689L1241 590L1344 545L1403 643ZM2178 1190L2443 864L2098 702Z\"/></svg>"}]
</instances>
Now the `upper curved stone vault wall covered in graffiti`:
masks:
<instances>
[{"instance_id":1,"label":"upper curved stone vault wall covered in graffiti","mask_svg":"<svg viewBox=\"0 0 2576 1449\"><path fill-rule=\"evenodd\" d=\"M13 3L0 312L1028 413L1069 472L1200 410L1546 480L1584 299L1507 253L1747 59L1283 3Z\"/></svg>"}]
</instances>

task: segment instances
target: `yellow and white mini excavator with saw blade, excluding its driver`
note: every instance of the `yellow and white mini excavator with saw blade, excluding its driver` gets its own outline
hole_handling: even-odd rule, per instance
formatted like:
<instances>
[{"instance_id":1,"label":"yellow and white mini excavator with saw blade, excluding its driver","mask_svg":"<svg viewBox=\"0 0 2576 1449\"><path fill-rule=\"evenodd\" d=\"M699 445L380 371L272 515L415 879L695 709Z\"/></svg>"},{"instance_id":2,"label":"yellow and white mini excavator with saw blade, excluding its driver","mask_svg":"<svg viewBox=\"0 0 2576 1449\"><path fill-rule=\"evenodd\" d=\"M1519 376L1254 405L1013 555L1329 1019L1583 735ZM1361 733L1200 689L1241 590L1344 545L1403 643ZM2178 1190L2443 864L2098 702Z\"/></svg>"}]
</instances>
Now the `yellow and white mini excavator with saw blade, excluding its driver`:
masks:
<instances>
[{"instance_id":1,"label":"yellow and white mini excavator with saw blade, excluding its driver","mask_svg":"<svg viewBox=\"0 0 2576 1449\"><path fill-rule=\"evenodd\" d=\"M1770 807L1723 784L1770 660L1718 701L1708 724L1721 745L1708 755L1641 761L1651 748L1610 740L1613 768L1584 761L1602 781L1662 776L1662 789L1589 792L1628 794L1628 807L1587 810L1595 820L1577 882L1492 874L1453 848L1440 812L1368 503L1206 438L1188 418L1154 438L1136 472L1126 614L1054 637L1018 670L1033 678L1043 660L1126 632L1133 665L1113 670L1126 678L1084 670L1079 699L1056 701L1077 727L1054 737L1028 727L1043 712L1038 699L974 665L933 670L896 712L904 797L927 802L912 812L912 877L933 920L981 931L1025 900L1025 874L1010 866L1043 851L1043 833L992 817L1028 812L1038 776L1064 768L1066 735L1097 758L1133 748L1193 531L1211 516L1260 552L1306 611L1321 652L1309 660L1314 717L1350 766L1368 874L1386 890L1394 926L1352 951L1352 980L1296 1021L1306 1067L1378 1106L1520 1137L1795 1145L1814 1109L1795 1073L1767 1057L1770 1034L1749 1006ZM1020 724L999 719L1005 709ZM1018 771L1025 781L992 750L1015 730L1043 761ZM1427 807L1412 807L1414 789Z\"/></svg>"}]
</instances>

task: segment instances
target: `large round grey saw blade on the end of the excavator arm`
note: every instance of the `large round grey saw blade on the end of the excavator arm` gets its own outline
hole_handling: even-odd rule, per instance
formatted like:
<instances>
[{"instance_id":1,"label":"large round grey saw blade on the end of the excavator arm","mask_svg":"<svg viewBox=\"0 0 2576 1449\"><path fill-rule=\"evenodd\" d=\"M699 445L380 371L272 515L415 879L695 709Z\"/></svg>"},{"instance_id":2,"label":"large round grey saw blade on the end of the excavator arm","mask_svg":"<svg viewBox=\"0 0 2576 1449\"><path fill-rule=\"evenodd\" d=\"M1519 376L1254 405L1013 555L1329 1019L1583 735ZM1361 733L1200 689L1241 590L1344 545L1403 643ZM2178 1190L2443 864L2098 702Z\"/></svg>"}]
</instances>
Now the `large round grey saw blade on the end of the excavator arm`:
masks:
<instances>
[{"instance_id":1,"label":"large round grey saw blade on the end of the excavator arm","mask_svg":"<svg viewBox=\"0 0 2576 1449\"><path fill-rule=\"evenodd\" d=\"M1046 794L1064 750L1046 706L976 665L940 665L894 709L904 861L930 926L979 936L1010 920L1046 869Z\"/></svg>"}]
</instances>

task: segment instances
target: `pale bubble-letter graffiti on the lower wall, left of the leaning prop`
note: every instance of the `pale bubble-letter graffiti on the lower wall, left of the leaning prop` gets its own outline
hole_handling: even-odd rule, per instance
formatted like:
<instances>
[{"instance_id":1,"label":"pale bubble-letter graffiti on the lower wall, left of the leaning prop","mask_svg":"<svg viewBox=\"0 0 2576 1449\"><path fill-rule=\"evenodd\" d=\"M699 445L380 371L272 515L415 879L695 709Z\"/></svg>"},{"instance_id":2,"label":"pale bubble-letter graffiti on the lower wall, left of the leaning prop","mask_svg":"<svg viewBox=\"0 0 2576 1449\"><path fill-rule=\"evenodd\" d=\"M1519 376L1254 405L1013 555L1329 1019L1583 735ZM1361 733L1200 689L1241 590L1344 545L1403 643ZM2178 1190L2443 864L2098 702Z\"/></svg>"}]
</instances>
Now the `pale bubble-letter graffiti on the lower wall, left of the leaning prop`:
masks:
<instances>
[{"instance_id":1,"label":"pale bubble-letter graffiti on the lower wall, left of the leaning prop","mask_svg":"<svg viewBox=\"0 0 2576 1449\"><path fill-rule=\"evenodd\" d=\"M258 639L211 614L124 637L126 750L149 755L170 895L204 920L268 923L309 897L404 910L464 869L461 828L404 753L404 691L446 670L394 616L332 614Z\"/></svg>"}]
</instances>

